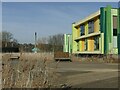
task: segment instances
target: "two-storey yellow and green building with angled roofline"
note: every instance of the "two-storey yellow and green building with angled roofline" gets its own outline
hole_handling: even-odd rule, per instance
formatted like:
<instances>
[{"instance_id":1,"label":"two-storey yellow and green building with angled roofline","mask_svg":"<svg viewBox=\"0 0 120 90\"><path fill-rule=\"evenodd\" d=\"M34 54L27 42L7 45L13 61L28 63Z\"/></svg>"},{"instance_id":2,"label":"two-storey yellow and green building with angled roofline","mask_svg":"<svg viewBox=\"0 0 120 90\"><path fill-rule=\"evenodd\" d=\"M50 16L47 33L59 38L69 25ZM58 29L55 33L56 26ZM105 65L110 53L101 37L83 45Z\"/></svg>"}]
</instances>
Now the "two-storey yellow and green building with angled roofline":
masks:
<instances>
[{"instance_id":1,"label":"two-storey yellow and green building with angled roofline","mask_svg":"<svg viewBox=\"0 0 120 90\"><path fill-rule=\"evenodd\" d=\"M110 5L72 24L72 53L118 54L119 8Z\"/></svg>"}]
</instances>

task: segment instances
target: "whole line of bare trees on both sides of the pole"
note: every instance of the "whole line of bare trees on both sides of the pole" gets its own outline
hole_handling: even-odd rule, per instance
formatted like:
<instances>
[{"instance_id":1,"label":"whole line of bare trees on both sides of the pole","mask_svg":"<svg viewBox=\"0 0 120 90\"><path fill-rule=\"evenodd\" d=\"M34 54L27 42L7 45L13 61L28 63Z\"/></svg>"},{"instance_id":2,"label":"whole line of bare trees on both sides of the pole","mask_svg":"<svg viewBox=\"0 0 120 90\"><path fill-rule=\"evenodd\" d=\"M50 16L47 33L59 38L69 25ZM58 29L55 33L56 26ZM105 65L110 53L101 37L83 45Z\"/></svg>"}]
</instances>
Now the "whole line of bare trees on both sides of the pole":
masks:
<instances>
[{"instance_id":1,"label":"whole line of bare trees on both sides of the pole","mask_svg":"<svg viewBox=\"0 0 120 90\"><path fill-rule=\"evenodd\" d=\"M20 51L32 52L34 44L24 43L21 44L14 38L11 32L2 31L0 32L0 47L17 47ZM48 37L42 37L37 39L37 48L41 52L54 52L63 51L63 34L51 35Z\"/></svg>"}]
</instances>

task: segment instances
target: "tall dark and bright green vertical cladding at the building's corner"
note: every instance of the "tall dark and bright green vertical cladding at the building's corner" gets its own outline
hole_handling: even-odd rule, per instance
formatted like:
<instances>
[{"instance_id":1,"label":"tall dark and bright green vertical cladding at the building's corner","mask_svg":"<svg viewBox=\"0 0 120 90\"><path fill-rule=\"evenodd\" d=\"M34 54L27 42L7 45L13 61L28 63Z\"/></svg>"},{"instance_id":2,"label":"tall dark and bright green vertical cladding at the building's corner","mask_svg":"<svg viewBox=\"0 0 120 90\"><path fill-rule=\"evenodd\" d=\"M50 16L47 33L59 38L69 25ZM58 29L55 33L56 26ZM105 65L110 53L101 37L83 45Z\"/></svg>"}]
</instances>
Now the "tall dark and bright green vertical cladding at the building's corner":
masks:
<instances>
[{"instance_id":1,"label":"tall dark and bright green vertical cladding at the building's corner","mask_svg":"<svg viewBox=\"0 0 120 90\"><path fill-rule=\"evenodd\" d=\"M100 29L101 33L104 33L104 54L109 54L112 45L111 9L110 5L100 8Z\"/></svg>"}]
</instances>

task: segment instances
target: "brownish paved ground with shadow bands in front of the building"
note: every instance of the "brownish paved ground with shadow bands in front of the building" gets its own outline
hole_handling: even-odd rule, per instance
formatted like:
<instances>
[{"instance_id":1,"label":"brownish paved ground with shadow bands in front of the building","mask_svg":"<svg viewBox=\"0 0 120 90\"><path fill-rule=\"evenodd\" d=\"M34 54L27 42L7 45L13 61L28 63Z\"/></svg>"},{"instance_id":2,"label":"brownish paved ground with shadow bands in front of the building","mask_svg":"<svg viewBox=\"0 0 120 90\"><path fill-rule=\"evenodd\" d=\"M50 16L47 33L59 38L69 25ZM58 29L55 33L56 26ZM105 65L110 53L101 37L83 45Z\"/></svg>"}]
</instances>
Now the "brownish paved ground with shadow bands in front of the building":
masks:
<instances>
[{"instance_id":1,"label":"brownish paved ground with shadow bands in front of the building","mask_svg":"<svg viewBox=\"0 0 120 90\"><path fill-rule=\"evenodd\" d=\"M50 64L55 67L55 62ZM57 72L63 83L80 88L117 88L118 64L59 62Z\"/></svg>"}]
</instances>

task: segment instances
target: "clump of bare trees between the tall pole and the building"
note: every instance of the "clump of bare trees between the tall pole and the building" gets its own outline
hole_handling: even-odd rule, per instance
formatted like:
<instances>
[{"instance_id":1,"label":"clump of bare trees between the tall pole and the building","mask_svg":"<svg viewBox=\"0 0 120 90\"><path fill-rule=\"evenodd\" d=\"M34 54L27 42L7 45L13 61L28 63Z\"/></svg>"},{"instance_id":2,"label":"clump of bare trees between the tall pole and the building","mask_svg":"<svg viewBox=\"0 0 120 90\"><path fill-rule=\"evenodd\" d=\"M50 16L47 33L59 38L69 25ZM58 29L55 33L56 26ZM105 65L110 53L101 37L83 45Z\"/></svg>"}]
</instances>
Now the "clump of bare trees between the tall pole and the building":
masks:
<instances>
[{"instance_id":1,"label":"clump of bare trees between the tall pole and the building","mask_svg":"<svg viewBox=\"0 0 120 90\"><path fill-rule=\"evenodd\" d=\"M62 51L63 34L51 35L38 39L38 48L42 51Z\"/></svg>"}]
</instances>

